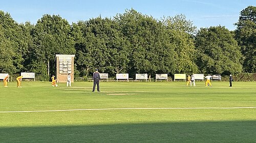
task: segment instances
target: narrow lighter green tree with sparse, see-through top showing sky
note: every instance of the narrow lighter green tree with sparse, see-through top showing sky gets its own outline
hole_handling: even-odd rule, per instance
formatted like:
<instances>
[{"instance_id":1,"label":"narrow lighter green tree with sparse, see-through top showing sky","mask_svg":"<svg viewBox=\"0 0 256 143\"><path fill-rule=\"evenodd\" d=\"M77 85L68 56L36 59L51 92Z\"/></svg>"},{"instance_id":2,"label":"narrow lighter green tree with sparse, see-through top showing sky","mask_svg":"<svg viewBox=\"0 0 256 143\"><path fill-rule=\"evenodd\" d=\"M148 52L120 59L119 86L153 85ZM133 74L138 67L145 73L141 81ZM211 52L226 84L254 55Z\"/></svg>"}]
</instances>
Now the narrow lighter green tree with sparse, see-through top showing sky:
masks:
<instances>
[{"instance_id":1,"label":"narrow lighter green tree with sparse, see-through top showing sky","mask_svg":"<svg viewBox=\"0 0 256 143\"><path fill-rule=\"evenodd\" d=\"M174 49L175 72L193 73L198 71L195 63L195 43L193 34L196 26L184 15L162 19L166 25L170 47Z\"/></svg>"}]
</instances>

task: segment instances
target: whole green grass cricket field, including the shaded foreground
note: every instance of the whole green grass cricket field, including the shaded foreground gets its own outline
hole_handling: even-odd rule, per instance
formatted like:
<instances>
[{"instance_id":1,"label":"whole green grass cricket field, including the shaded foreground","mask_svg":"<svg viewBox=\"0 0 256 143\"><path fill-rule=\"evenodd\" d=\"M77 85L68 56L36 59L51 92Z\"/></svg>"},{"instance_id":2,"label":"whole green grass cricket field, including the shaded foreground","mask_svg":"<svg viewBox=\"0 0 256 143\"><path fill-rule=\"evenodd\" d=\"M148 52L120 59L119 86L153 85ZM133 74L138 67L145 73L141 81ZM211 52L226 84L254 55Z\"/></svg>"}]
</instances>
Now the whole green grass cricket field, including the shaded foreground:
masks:
<instances>
[{"instance_id":1,"label":"whole green grass cricket field, including the shaded foreground","mask_svg":"<svg viewBox=\"0 0 256 143\"><path fill-rule=\"evenodd\" d=\"M256 82L196 83L1 82L0 142L255 142Z\"/></svg>"}]
</instances>

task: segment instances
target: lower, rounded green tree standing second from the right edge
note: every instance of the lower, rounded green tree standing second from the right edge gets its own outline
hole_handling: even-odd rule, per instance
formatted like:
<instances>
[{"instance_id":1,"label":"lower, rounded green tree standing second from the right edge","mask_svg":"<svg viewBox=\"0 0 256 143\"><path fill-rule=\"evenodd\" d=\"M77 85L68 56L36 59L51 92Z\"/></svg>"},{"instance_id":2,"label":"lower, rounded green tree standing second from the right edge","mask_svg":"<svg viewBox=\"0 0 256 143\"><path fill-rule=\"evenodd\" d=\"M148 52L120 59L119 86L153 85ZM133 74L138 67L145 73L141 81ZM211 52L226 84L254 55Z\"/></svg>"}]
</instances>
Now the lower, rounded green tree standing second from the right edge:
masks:
<instances>
[{"instance_id":1,"label":"lower, rounded green tree standing second from the right edge","mask_svg":"<svg viewBox=\"0 0 256 143\"><path fill-rule=\"evenodd\" d=\"M203 73L242 72L242 54L234 34L224 26L201 28L196 36L197 65Z\"/></svg>"}]
</instances>

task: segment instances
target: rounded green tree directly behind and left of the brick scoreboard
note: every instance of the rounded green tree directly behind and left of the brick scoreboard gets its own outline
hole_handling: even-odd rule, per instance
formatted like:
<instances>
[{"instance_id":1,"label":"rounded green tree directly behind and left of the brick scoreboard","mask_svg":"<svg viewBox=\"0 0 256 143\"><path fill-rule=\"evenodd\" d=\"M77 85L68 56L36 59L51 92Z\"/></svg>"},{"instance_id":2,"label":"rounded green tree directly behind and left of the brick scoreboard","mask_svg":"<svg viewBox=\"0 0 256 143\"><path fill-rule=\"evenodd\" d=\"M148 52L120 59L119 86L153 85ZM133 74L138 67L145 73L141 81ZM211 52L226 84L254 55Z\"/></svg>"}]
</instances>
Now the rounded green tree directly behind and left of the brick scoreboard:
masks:
<instances>
[{"instance_id":1,"label":"rounded green tree directly behind and left of the brick scoreboard","mask_svg":"<svg viewBox=\"0 0 256 143\"><path fill-rule=\"evenodd\" d=\"M55 74L56 54L75 54L71 26L59 15L44 15L32 30L33 47L29 50L28 69L48 80Z\"/></svg>"}]
</instances>

